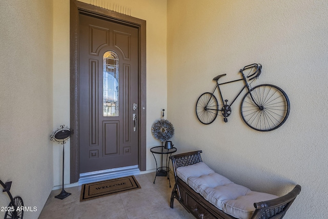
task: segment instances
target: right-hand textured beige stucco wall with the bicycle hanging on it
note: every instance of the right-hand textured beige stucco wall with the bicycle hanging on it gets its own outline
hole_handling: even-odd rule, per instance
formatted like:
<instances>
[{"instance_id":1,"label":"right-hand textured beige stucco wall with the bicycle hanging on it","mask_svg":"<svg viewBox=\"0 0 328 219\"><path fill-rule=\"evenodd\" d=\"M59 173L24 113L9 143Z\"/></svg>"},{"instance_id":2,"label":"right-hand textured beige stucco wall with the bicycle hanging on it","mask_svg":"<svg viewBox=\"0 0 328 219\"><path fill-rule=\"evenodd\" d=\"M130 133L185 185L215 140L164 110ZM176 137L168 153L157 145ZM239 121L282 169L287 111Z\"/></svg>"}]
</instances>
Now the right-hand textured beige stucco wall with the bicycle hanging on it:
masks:
<instances>
[{"instance_id":1,"label":"right-hand textured beige stucco wall with the bicycle hanging on it","mask_svg":"<svg viewBox=\"0 0 328 219\"><path fill-rule=\"evenodd\" d=\"M203 150L203 160L235 183L282 195L302 191L286 218L328 218L328 2L168 0L168 118L178 150ZM258 132L240 116L239 97L228 123L202 125L198 96L212 78L240 77L261 63L256 84L281 87L291 112L283 126ZM238 84L238 83L237 83ZM240 86L240 84L239 84ZM224 86L228 99L238 86ZM218 97L218 94L216 94Z\"/></svg>"}]
</instances>

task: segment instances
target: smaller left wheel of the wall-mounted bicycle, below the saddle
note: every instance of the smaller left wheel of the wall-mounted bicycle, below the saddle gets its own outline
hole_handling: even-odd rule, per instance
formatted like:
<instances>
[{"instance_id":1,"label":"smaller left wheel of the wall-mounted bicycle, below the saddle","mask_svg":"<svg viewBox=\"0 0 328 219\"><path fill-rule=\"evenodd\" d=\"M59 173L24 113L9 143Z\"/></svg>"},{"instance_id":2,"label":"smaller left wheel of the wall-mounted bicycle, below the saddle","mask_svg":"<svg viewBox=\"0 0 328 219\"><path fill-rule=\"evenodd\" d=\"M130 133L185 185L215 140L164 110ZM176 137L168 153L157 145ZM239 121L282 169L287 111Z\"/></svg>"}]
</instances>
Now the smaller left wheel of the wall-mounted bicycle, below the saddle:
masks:
<instances>
[{"instance_id":1,"label":"smaller left wheel of the wall-mounted bicycle, below the saddle","mask_svg":"<svg viewBox=\"0 0 328 219\"><path fill-rule=\"evenodd\" d=\"M216 97L209 92L199 96L196 103L196 115L198 120L205 125L213 123L218 113Z\"/></svg>"}]
</instances>

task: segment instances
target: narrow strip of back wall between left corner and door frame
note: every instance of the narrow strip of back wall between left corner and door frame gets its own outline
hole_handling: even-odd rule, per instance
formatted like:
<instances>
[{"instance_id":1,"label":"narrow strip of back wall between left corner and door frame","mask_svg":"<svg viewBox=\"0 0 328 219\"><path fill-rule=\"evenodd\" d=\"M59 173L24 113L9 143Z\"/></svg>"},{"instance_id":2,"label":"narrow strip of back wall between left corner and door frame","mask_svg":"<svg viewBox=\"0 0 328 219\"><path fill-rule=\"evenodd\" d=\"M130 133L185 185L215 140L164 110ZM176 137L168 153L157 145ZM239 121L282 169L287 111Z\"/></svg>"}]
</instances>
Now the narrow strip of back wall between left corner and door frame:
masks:
<instances>
[{"instance_id":1,"label":"narrow strip of back wall between left corner and door frame","mask_svg":"<svg viewBox=\"0 0 328 219\"><path fill-rule=\"evenodd\" d=\"M53 130L70 126L70 1L53 2ZM63 145L53 143L54 185L62 184ZM65 184L70 183L70 141L65 144Z\"/></svg>"}]
</instances>

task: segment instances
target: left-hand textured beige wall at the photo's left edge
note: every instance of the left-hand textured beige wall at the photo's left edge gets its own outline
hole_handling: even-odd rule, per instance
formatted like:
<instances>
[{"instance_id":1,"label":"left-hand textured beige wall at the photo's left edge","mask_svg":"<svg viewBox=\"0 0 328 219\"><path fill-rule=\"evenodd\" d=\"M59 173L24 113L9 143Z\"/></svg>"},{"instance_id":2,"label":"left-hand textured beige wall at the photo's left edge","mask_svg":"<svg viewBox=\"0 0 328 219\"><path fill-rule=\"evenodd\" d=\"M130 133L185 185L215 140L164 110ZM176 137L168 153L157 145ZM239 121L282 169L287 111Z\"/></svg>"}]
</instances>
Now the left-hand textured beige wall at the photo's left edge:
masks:
<instances>
[{"instance_id":1,"label":"left-hand textured beige wall at the photo's left edge","mask_svg":"<svg viewBox=\"0 0 328 219\"><path fill-rule=\"evenodd\" d=\"M0 180L36 207L26 219L37 218L53 187L52 10L51 0L0 4ZM9 202L1 192L0 207Z\"/></svg>"}]
</instances>

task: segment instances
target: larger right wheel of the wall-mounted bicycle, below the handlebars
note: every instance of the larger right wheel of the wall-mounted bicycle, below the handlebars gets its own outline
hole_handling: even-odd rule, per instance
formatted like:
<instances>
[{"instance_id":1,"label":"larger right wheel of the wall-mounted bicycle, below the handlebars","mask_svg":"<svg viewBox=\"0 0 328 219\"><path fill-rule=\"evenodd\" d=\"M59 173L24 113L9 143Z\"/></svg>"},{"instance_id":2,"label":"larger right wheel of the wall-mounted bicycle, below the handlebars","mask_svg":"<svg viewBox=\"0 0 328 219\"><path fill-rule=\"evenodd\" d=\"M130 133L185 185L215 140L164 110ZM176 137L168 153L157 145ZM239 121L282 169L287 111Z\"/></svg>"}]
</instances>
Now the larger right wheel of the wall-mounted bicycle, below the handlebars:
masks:
<instances>
[{"instance_id":1,"label":"larger right wheel of the wall-mounted bicycle, below the handlebars","mask_svg":"<svg viewBox=\"0 0 328 219\"><path fill-rule=\"evenodd\" d=\"M281 88L268 84L254 87L243 97L240 106L243 121L257 131L279 128L287 120L289 112L287 94Z\"/></svg>"}]
</instances>

